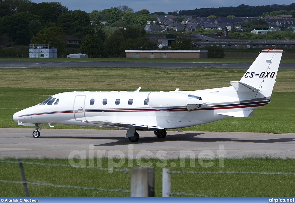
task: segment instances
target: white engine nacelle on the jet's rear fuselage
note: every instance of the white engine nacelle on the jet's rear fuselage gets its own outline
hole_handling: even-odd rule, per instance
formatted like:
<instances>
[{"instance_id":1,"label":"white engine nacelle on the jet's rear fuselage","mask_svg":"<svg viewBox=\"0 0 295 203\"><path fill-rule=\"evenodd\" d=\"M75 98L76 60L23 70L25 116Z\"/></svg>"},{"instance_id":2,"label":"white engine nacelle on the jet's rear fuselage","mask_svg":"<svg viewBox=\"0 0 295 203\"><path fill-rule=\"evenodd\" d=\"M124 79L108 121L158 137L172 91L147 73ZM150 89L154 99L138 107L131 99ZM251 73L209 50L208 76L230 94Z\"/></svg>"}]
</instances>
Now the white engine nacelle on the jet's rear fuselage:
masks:
<instances>
[{"instance_id":1,"label":"white engine nacelle on the jet's rear fuselage","mask_svg":"<svg viewBox=\"0 0 295 203\"><path fill-rule=\"evenodd\" d=\"M193 110L200 108L205 103L199 96L180 92L150 92L148 94L148 106L163 111L181 107Z\"/></svg>"}]
</instances>

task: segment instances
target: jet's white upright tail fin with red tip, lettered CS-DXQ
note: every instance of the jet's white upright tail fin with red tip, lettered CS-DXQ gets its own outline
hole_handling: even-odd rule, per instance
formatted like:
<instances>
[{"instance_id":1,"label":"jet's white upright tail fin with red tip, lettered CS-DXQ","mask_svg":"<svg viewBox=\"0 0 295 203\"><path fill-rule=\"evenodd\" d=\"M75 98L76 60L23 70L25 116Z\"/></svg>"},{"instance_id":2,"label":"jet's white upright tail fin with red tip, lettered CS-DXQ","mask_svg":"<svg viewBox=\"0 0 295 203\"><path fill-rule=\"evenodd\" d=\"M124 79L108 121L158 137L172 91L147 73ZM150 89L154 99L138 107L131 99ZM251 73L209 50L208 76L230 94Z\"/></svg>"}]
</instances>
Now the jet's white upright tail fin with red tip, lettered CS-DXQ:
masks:
<instances>
[{"instance_id":1,"label":"jet's white upright tail fin with red tip, lettered CS-DXQ","mask_svg":"<svg viewBox=\"0 0 295 203\"><path fill-rule=\"evenodd\" d=\"M264 49L241 78L240 83L258 90L256 99L270 99L282 53L283 49Z\"/></svg>"}]
</instances>

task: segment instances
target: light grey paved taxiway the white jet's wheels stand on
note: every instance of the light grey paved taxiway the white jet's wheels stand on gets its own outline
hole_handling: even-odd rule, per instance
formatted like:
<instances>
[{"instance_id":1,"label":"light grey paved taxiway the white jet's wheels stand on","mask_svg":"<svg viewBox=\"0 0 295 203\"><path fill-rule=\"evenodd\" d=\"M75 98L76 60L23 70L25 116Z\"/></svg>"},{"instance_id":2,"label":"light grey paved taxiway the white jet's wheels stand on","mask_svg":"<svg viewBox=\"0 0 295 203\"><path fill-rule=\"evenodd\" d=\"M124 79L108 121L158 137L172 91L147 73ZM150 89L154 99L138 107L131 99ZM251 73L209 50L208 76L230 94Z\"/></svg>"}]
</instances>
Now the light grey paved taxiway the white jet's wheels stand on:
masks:
<instances>
[{"instance_id":1,"label":"light grey paved taxiway the white jet's wheels stand on","mask_svg":"<svg viewBox=\"0 0 295 203\"><path fill-rule=\"evenodd\" d=\"M167 136L159 139L153 132L138 131L140 140L134 143L124 138L126 130L42 129L39 138L32 137L33 130L1 128L0 158L68 158L77 154L89 157L89 153L134 158L137 155L178 158L185 154L198 157L204 153L212 156L225 153L225 158L266 155L295 158L295 134L167 131Z\"/></svg>"}]
</instances>

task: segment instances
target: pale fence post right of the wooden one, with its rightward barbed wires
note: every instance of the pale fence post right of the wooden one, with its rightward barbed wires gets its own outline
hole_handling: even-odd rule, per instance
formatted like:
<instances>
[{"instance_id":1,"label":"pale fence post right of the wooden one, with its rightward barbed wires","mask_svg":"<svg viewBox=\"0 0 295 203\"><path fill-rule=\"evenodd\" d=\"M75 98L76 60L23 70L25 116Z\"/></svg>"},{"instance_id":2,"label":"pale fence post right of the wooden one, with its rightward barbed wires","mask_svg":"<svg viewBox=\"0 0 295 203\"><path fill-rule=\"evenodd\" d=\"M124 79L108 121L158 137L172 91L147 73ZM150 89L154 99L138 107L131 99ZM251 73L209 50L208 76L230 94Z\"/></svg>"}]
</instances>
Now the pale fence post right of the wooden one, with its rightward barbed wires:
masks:
<instances>
[{"instance_id":1,"label":"pale fence post right of the wooden one, with its rightward barbed wires","mask_svg":"<svg viewBox=\"0 0 295 203\"><path fill-rule=\"evenodd\" d=\"M162 174L162 197L171 197L173 195L186 195L195 197L212 197L204 194L194 194L187 192L171 192L171 174L190 173L190 174L260 174L260 175L295 175L295 173L281 172L257 172L257 171L171 171L169 168L163 168Z\"/></svg>"}]
</instances>

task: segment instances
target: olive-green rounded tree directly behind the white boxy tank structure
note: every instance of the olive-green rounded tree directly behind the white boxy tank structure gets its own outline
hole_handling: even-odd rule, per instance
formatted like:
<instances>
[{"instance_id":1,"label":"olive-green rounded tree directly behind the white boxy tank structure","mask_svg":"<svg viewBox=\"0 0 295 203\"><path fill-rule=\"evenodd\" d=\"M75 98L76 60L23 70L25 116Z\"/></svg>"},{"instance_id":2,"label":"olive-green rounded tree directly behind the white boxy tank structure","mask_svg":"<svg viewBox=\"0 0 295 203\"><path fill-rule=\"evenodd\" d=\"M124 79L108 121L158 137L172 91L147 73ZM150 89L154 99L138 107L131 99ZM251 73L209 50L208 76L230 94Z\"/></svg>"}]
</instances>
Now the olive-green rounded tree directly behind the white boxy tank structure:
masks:
<instances>
[{"instance_id":1,"label":"olive-green rounded tree directly behind the white boxy tank structure","mask_svg":"<svg viewBox=\"0 0 295 203\"><path fill-rule=\"evenodd\" d=\"M36 36L31 40L32 44L48 44L49 47L58 49L58 56L60 57L66 45L65 33L61 27L49 27L40 30Z\"/></svg>"}]
</instances>

